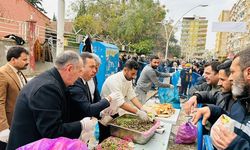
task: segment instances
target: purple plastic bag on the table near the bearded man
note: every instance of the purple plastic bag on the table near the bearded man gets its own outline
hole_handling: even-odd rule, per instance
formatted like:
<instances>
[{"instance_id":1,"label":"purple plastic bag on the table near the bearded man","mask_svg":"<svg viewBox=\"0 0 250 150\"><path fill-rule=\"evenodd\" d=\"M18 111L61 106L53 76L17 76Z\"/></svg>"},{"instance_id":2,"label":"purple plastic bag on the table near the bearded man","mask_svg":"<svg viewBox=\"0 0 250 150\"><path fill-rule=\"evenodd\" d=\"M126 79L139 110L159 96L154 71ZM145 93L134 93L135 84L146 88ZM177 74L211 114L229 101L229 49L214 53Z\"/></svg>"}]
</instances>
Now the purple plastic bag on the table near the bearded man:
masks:
<instances>
[{"instance_id":1,"label":"purple plastic bag on the table near the bearded man","mask_svg":"<svg viewBox=\"0 0 250 150\"><path fill-rule=\"evenodd\" d=\"M197 138L197 128L191 122L182 124L175 137L176 144L191 144Z\"/></svg>"}]
</instances>

